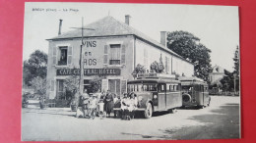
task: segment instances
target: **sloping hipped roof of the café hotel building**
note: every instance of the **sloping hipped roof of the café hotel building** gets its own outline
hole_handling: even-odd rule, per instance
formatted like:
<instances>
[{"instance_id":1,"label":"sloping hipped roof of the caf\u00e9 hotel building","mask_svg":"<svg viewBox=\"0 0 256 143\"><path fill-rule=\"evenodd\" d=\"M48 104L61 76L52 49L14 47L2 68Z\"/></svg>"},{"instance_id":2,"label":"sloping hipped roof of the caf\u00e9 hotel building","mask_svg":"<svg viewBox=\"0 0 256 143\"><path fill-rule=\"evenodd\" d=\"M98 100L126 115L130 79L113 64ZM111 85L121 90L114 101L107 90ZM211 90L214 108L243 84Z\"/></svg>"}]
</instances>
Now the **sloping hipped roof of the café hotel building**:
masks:
<instances>
[{"instance_id":1,"label":"sloping hipped roof of the caf\u00e9 hotel building","mask_svg":"<svg viewBox=\"0 0 256 143\"><path fill-rule=\"evenodd\" d=\"M128 24L121 23L111 16L107 16L103 19L100 19L96 21L95 23L88 24L85 26L86 28L94 28L95 30L84 30L84 37L99 37L99 36L117 36L117 35L135 35L143 40L146 40L147 42L154 44L158 46L160 49L170 53L171 55L174 55L176 57L179 57L183 61L186 61L188 63L191 63L175 52L169 50L168 48L161 45L158 41L152 39L151 37L145 35L144 33L140 32L139 30L129 26ZM81 29L74 29L65 33L62 33L58 36L55 36L51 39L47 40L61 40L61 39L67 39L67 38L81 38L82 37L82 31Z\"/></svg>"}]
</instances>

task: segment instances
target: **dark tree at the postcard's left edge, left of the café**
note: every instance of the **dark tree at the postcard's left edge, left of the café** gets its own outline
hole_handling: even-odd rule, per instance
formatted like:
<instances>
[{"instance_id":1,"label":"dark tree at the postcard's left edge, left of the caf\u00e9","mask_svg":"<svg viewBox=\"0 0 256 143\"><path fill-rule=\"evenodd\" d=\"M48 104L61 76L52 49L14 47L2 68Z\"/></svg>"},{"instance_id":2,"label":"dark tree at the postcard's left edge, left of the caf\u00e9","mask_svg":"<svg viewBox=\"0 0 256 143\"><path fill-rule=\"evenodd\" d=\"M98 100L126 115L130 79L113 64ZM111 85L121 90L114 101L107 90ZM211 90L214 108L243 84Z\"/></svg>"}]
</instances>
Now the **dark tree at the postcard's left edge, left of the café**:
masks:
<instances>
[{"instance_id":1,"label":"dark tree at the postcard's left edge, left of the caf\u00e9","mask_svg":"<svg viewBox=\"0 0 256 143\"><path fill-rule=\"evenodd\" d=\"M47 54L36 50L32 53L29 60L23 63L24 84L32 86L31 81L34 77L46 78L47 74Z\"/></svg>"}]
</instances>

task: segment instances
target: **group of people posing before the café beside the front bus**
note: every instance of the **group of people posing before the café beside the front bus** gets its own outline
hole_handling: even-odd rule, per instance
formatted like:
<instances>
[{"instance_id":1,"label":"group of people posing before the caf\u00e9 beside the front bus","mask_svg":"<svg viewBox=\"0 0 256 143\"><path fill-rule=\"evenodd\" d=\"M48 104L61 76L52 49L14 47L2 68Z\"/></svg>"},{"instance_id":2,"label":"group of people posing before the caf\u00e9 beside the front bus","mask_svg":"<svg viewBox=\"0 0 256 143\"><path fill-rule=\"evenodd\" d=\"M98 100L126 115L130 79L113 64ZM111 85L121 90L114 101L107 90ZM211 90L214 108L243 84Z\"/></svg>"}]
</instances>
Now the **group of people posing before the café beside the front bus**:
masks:
<instances>
[{"instance_id":1,"label":"group of people posing before the caf\u00e9 beside the front bus","mask_svg":"<svg viewBox=\"0 0 256 143\"><path fill-rule=\"evenodd\" d=\"M82 110L83 117L95 118L96 114L102 119L103 117L109 118L110 114L113 112L114 105L120 103L121 119L131 119L134 118L134 110L137 108L138 101L134 93L128 95L127 93L123 94L123 97L120 97L116 94L110 93L109 90L106 92L96 92L87 94L79 97L78 102L78 111ZM114 113L116 117L116 113Z\"/></svg>"}]
</instances>

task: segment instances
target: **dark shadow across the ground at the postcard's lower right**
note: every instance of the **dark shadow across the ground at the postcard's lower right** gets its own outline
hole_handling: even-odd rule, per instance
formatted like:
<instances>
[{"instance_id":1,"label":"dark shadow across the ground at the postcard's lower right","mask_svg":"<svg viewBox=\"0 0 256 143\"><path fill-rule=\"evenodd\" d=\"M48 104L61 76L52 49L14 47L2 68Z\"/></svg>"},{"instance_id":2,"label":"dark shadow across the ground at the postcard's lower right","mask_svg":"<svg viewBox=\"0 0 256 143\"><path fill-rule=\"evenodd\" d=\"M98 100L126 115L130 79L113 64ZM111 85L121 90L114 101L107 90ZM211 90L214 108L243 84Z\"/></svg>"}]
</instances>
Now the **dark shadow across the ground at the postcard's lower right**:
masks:
<instances>
[{"instance_id":1,"label":"dark shadow across the ground at the postcard's lower right","mask_svg":"<svg viewBox=\"0 0 256 143\"><path fill-rule=\"evenodd\" d=\"M156 113L156 117L168 112ZM160 130L162 135L147 135L122 132L125 135L141 136L144 139L227 139L239 138L239 104L225 104L210 114L194 116L189 119L197 120L204 125L191 125L177 129Z\"/></svg>"}]
</instances>

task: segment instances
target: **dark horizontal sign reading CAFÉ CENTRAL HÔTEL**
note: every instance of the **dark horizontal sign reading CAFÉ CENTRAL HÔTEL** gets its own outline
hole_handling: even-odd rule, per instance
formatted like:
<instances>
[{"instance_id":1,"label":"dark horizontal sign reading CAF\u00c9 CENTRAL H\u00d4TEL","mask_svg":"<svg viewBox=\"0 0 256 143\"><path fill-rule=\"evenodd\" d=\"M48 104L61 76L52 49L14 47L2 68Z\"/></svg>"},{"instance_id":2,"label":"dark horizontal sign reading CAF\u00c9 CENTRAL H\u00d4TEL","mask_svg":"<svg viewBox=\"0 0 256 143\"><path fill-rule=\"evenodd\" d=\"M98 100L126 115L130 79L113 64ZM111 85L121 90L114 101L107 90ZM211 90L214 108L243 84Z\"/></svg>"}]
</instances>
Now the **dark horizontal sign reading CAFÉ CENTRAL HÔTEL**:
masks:
<instances>
[{"instance_id":1,"label":"dark horizontal sign reading CAF\u00c9 CENTRAL H\u00d4TEL","mask_svg":"<svg viewBox=\"0 0 256 143\"><path fill-rule=\"evenodd\" d=\"M57 75L79 75L79 69L58 69ZM120 75L120 69L85 69L84 75Z\"/></svg>"}]
</instances>

